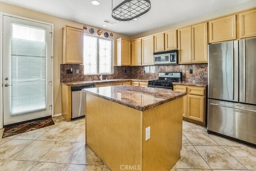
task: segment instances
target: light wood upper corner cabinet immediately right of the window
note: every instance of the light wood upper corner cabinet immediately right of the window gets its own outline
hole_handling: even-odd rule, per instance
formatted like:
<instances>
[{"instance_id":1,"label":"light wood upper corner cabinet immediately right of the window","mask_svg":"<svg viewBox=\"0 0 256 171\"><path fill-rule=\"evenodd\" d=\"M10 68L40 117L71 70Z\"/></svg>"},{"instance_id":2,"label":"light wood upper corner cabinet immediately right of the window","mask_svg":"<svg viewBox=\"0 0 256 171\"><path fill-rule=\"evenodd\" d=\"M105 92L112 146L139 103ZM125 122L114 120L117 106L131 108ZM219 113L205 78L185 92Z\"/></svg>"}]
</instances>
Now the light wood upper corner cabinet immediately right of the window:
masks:
<instances>
[{"instance_id":1,"label":"light wood upper corner cabinet immediately right of the window","mask_svg":"<svg viewBox=\"0 0 256 171\"><path fill-rule=\"evenodd\" d=\"M126 39L116 39L116 64L118 66L131 65L131 41Z\"/></svg>"}]
</instances>

